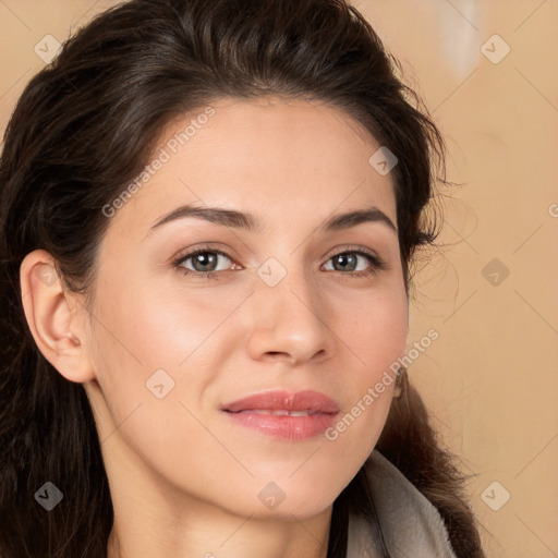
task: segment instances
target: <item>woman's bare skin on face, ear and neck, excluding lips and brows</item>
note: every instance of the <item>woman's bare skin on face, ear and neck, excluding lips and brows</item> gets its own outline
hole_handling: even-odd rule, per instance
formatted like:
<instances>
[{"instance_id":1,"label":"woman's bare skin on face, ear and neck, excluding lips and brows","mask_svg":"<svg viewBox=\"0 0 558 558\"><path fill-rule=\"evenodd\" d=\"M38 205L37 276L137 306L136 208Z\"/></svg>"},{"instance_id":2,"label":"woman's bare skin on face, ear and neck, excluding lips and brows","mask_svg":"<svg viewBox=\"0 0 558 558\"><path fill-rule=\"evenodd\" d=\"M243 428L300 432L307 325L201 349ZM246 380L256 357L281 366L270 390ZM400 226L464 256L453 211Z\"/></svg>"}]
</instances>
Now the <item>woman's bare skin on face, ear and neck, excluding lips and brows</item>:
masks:
<instances>
[{"instance_id":1,"label":"woman's bare skin on face, ear and neck, excluding lips and brows","mask_svg":"<svg viewBox=\"0 0 558 558\"><path fill-rule=\"evenodd\" d=\"M377 142L339 109L278 98L211 106L110 218L90 305L45 281L53 260L35 251L21 268L25 314L43 354L92 403L116 513L110 558L325 558L333 500L373 450L393 386L335 441L271 438L232 424L221 405L314 389L343 416L404 354L397 232L380 221L319 230L372 205L397 226L393 182L368 163ZM191 119L169 125L154 154ZM189 217L149 233L189 203L250 211L263 229ZM218 278L173 266L199 243L227 253ZM336 267L332 256L355 247L385 269ZM257 275L269 257L287 271L272 288ZM357 262L357 272L373 266ZM174 380L162 399L146 388L160 368ZM270 482L284 493L275 509L258 498Z\"/></svg>"}]
</instances>

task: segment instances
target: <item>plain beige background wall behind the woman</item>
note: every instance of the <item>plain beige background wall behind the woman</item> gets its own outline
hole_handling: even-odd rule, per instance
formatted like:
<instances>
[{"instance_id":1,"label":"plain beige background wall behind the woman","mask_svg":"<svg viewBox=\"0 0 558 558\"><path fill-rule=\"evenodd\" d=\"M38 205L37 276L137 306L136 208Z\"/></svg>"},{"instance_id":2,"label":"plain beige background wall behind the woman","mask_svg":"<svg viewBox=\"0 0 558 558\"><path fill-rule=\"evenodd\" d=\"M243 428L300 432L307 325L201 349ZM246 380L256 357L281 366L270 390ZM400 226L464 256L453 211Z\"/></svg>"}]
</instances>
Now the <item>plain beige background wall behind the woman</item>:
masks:
<instances>
[{"instance_id":1,"label":"plain beige background wall behind the woman","mask_svg":"<svg viewBox=\"0 0 558 558\"><path fill-rule=\"evenodd\" d=\"M2 133L45 63L35 46L48 56L46 35L63 41L114 3L0 0ZM558 0L354 4L433 112L460 184L444 202L447 246L415 279L410 343L439 339L411 378L475 475L487 555L558 557Z\"/></svg>"}]
</instances>

